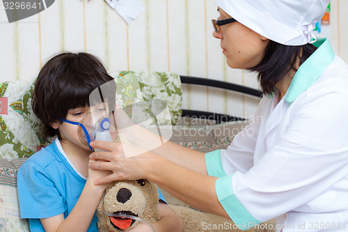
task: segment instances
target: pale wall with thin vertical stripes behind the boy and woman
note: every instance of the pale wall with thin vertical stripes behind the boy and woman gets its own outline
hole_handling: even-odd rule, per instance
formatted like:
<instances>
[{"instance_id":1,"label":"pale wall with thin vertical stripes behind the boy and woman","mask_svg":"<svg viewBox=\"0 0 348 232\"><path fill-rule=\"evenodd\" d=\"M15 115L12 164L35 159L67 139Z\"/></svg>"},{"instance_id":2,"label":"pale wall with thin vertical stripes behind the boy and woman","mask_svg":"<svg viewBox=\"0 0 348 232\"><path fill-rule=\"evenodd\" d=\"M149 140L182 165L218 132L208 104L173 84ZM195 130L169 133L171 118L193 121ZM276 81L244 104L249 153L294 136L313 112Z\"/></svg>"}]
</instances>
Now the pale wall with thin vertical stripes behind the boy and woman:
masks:
<instances>
[{"instance_id":1,"label":"pale wall with thin vertical stripes behind the boy and woman","mask_svg":"<svg viewBox=\"0 0 348 232\"><path fill-rule=\"evenodd\" d=\"M212 38L213 0L142 0L129 24L104 0L56 0L38 15L8 24L0 4L0 81L33 79L61 51L90 52L110 71L152 70L221 79L258 88L255 75L227 67ZM348 1L331 2L331 42L348 62ZM249 117L257 100L212 88L184 88L184 107Z\"/></svg>"}]
</instances>

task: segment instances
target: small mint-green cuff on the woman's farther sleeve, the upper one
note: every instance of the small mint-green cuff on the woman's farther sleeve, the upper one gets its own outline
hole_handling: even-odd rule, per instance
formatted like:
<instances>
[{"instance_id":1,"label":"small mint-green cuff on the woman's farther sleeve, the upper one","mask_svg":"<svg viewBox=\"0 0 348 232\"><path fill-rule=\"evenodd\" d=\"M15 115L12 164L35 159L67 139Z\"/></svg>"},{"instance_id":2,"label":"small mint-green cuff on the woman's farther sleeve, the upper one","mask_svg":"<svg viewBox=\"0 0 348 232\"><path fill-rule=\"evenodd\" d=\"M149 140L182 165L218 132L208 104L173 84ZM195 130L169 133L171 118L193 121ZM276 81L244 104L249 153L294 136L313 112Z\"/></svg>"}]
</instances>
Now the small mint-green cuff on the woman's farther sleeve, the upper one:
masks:
<instances>
[{"instance_id":1,"label":"small mint-green cuff on the woman's farther sleeve, the upper one","mask_svg":"<svg viewBox=\"0 0 348 232\"><path fill-rule=\"evenodd\" d=\"M205 166L207 167L209 176L226 176L226 172L222 167L220 152L221 150L214 150L212 152L205 153Z\"/></svg>"}]
</instances>

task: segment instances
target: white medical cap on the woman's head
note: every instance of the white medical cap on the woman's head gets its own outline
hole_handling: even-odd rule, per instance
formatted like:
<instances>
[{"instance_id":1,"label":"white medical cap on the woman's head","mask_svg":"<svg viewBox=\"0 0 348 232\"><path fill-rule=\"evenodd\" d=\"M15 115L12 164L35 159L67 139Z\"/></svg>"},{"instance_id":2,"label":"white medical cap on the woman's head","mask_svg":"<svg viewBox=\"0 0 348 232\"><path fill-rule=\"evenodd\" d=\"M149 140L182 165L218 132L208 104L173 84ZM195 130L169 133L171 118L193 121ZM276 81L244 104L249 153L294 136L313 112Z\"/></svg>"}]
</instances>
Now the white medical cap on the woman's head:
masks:
<instances>
[{"instance_id":1,"label":"white medical cap on the woman's head","mask_svg":"<svg viewBox=\"0 0 348 232\"><path fill-rule=\"evenodd\" d=\"M215 0L228 15L283 45L316 41L313 30L330 0Z\"/></svg>"}]
</instances>

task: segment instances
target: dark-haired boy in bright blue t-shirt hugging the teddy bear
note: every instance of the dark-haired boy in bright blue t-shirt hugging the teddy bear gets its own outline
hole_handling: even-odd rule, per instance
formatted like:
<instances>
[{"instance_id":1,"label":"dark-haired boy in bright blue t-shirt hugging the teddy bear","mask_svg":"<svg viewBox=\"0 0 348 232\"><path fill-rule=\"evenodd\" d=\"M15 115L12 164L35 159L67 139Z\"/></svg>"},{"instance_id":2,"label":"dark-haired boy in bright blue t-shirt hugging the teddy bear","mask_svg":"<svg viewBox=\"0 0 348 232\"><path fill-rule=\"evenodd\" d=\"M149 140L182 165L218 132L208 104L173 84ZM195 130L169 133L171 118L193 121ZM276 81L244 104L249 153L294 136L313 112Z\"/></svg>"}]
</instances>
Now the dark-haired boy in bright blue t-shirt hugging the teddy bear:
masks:
<instances>
[{"instance_id":1,"label":"dark-haired boy in bright blue t-shirt hugging the teddy bear","mask_svg":"<svg viewBox=\"0 0 348 232\"><path fill-rule=\"evenodd\" d=\"M43 137L52 144L32 155L18 171L17 188L22 218L35 231L97 231L95 210L109 183L94 181L109 174L88 168L88 145L78 137L79 122L89 111L89 95L112 81L102 63L86 53L54 56L40 70L33 91L33 111L42 121ZM109 107L115 106L108 99ZM111 108L112 111L113 108ZM164 201L160 194L160 199ZM182 231L182 221L159 201L156 231ZM136 231L136 229L134 229ZM140 226L138 231L143 231Z\"/></svg>"}]
</instances>

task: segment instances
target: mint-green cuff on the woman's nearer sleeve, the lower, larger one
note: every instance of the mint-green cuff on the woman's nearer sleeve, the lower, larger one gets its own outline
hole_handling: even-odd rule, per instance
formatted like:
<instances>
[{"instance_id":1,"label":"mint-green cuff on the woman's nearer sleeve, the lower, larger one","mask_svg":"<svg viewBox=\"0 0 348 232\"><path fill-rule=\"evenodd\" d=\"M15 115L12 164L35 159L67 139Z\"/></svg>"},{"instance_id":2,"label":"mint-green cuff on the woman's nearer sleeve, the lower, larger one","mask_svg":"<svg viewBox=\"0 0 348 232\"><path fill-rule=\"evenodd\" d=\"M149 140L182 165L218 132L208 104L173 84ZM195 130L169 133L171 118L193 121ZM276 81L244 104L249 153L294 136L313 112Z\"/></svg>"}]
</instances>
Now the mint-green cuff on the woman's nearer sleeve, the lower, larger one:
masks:
<instances>
[{"instance_id":1,"label":"mint-green cuff on the woman's nearer sleeve, the lower, larger one","mask_svg":"<svg viewBox=\"0 0 348 232\"><path fill-rule=\"evenodd\" d=\"M235 194L233 194L232 175L233 174L224 176L216 180L216 194L230 219L235 222L239 229L245 231L261 222L255 219L255 217L244 208L242 203L239 202Z\"/></svg>"}]
</instances>

